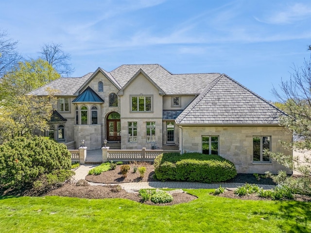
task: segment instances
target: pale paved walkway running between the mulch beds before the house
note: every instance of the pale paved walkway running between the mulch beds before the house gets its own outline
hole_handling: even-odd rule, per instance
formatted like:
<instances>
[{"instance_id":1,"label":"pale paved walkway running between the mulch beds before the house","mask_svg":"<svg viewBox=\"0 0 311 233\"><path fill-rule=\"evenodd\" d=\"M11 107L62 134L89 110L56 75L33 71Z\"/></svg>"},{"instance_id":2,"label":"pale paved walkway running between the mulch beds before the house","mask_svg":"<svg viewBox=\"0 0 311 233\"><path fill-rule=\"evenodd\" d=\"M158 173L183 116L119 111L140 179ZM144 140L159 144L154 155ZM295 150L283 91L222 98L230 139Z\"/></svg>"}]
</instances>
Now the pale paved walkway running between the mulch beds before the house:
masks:
<instances>
[{"instance_id":1,"label":"pale paved walkway running between the mulch beds before the house","mask_svg":"<svg viewBox=\"0 0 311 233\"><path fill-rule=\"evenodd\" d=\"M78 181L85 179L88 171L97 165L81 165L75 170L73 178ZM91 185L107 185L106 183L90 183ZM218 188L220 185L226 188L236 188L242 186L244 183L199 183L199 182L137 182L137 183L116 183L119 184L126 191L139 190L141 188L185 188L185 189L198 189L198 188ZM115 185L116 185L115 184ZM259 187L263 189L275 188L275 185L261 184Z\"/></svg>"}]
</instances>

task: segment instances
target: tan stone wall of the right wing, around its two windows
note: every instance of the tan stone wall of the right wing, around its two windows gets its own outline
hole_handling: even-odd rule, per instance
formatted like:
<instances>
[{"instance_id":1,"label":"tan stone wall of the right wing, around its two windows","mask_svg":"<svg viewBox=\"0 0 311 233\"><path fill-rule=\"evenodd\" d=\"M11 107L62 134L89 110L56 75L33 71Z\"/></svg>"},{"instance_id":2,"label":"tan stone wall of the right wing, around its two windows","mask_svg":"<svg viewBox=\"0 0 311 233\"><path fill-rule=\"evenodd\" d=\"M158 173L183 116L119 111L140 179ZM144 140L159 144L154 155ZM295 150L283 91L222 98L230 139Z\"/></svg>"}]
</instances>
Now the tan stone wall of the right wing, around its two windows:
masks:
<instances>
[{"instance_id":1,"label":"tan stone wall of the right wing, around its two windows","mask_svg":"<svg viewBox=\"0 0 311 233\"><path fill-rule=\"evenodd\" d=\"M182 135L182 137L181 137ZM287 134L282 127L263 126L183 126L180 130L182 138L182 152L202 152L202 136L219 136L219 155L232 161L238 173L264 173L278 170L290 170L277 164L253 162L253 136L271 136L271 149L273 152L284 151L279 140L290 141L292 135Z\"/></svg>"}]
</instances>

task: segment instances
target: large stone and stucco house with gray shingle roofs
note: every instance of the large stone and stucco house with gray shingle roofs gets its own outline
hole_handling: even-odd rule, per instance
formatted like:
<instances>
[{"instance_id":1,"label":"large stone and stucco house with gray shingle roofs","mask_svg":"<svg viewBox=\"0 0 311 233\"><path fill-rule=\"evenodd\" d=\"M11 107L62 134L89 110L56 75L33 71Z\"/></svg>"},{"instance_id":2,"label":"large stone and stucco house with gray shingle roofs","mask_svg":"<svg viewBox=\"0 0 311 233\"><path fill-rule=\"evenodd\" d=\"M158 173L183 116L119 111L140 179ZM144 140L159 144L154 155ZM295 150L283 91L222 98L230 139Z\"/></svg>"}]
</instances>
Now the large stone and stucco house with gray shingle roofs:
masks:
<instances>
[{"instance_id":1,"label":"large stone and stucco house with gray shingle roofs","mask_svg":"<svg viewBox=\"0 0 311 233\"><path fill-rule=\"evenodd\" d=\"M88 150L107 139L122 150L171 146L219 154L240 173L285 169L263 154L283 152L278 141L292 138L279 126L283 112L225 74L172 74L156 64L99 67L30 94L49 89L58 91L49 132L57 141L79 147L83 139Z\"/></svg>"}]
</instances>

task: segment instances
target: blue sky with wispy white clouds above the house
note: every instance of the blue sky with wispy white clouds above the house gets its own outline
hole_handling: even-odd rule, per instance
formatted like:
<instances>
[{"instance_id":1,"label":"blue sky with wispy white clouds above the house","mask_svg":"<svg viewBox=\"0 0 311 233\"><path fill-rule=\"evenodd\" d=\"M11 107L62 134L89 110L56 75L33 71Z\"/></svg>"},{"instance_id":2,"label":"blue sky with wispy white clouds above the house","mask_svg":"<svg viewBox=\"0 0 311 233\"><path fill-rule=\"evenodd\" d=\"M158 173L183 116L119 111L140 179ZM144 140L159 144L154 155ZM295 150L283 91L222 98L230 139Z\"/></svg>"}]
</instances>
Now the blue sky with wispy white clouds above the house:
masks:
<instances>
[{"instance_id":1,"label":"blue sky with wispy white clouds above the house","mask_svg":"<svg viewBox=\"0 0 311 233\"><path fill-rule=\"evenodd\" d=\"M160 64L225 73L275 100L273 85L310 57L311 0L1 0L0 29L24 57L62 44L71 77Z\"/></svg>"}]
</instances>

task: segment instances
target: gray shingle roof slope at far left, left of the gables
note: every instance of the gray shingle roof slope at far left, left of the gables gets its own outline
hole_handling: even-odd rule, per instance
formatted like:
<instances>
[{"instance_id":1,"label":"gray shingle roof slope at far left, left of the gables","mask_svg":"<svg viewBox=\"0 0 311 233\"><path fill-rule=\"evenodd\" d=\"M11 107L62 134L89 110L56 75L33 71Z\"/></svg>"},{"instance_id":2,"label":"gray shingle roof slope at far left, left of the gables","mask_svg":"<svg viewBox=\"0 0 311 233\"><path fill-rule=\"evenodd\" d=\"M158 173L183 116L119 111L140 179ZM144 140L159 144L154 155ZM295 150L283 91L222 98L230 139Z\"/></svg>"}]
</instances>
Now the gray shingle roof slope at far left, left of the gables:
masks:
<instances>
[{"instance_id":1,"label":"gray shingle roof slope at far left, left of the gables","mask_svg":"<svg viewBox=\"0 0 311 233\"><path fill-rule=\"evenodd\" d=\"M49 89L57 90L57 96L72 96L75 95L77 90L87 81L93 73L88 73L80 78L59 78L51 83L39 87L28 93L28 95L47 96Z\"/></svg>"}]
</instances>

